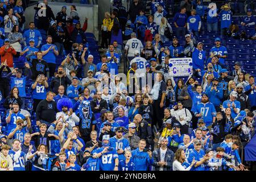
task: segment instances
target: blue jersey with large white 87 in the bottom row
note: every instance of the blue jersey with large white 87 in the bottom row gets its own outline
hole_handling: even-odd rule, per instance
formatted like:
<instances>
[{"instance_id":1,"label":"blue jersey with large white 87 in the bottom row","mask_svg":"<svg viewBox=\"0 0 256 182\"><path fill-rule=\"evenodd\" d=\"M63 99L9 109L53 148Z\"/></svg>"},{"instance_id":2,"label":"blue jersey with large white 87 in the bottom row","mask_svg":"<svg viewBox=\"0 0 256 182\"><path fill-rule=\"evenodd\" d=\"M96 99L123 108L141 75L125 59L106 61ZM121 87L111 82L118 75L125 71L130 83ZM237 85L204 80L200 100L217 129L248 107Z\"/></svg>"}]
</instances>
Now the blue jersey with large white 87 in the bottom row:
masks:
<instances>
[{"instance_id":1,"label":"blue jersey with large white 87 in the bottom row","mask_svg":"<svg viewBox=\"0 0 256 182\"><path fill-rule=\"evenodd\" d=\"M98 154L104 150L104 147L98 148L95 153ZM113 151L106 152L101 155L98 159L98 163L100 163L101 171L114 171L115 168L115 159L118 158L117 150L113 148Z\"/></svg>"}]
</instances>

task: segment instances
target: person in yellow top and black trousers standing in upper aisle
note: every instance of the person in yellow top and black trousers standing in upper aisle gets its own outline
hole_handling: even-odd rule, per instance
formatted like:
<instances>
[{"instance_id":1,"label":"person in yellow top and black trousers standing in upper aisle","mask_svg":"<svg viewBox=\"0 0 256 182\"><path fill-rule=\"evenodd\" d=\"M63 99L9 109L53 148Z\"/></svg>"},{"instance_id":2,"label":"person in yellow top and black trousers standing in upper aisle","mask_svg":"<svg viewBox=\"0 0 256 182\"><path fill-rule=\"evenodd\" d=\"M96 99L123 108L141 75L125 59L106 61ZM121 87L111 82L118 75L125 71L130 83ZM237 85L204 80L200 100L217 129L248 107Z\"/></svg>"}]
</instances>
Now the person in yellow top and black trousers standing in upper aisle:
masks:
<instances>
[{"instance_id":1,"label":"person in yellow top and black trousers standing in upper aisle","mask_svg":"<svg viewBox=\"0 0 256 182\"><path fill-rule=\"evenodd\" d=\"M105 12L105 18L103 19L102 25L101 25L101 35L102 35L101 48L102 49L108 49L108 46L110 44L110 39L109 39L110 32L111 32L110 23L111 23L110 13Z\"/></svg>"}]
</instances>

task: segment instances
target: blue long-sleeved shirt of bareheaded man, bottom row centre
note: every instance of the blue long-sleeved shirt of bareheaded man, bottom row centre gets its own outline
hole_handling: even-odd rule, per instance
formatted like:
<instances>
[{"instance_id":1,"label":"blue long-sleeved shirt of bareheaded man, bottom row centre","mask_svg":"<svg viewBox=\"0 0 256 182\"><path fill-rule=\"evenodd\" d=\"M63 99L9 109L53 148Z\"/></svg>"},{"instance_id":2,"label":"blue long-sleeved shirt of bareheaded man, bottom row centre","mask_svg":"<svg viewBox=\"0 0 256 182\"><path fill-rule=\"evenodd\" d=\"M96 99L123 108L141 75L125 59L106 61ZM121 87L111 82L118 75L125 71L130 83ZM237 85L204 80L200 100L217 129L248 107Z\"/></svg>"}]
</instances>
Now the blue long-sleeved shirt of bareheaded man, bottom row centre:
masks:
<instances>
[{"instance_id":1,"label":"blue long-sleeved shirt of bareheaded man, bottom row centre","mask_svg":"<svg viewBox=\"0 0 256 182\"><path fill-rule=\"evenodd\" d=\"M135 165L135 171L147 171L148 167L152 164L153 158L147 152L139 151L139 148L131 151L133 162Z\"/></svg>"}]
</instances>

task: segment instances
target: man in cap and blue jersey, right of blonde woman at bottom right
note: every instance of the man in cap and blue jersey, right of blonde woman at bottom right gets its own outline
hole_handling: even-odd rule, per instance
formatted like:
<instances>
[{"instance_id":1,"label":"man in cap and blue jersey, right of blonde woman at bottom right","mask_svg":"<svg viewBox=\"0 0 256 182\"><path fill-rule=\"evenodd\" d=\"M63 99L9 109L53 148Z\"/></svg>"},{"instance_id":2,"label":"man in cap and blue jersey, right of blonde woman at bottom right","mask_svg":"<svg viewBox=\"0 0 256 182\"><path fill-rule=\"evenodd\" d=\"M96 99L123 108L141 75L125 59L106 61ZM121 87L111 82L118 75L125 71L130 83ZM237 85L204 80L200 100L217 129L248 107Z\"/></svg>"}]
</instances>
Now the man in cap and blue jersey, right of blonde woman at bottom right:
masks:
<instances>
[{"instance_id":1,"label":"man in cap and blue jersey, right of blonde woman at bottom right","mask_svg":"<svg viewBox=\"0 0 256 182\"><path fill-rule=\"evenodd\" d=\"M195 140L194 149L190 152L188 156L188 163L192 163L193 159L196 160L195 165L191 168L191 171L204 171L205 162L209 160L209 155L205 155L204 150L201 149L201 140Z\"/></svg>"}]
</instances>

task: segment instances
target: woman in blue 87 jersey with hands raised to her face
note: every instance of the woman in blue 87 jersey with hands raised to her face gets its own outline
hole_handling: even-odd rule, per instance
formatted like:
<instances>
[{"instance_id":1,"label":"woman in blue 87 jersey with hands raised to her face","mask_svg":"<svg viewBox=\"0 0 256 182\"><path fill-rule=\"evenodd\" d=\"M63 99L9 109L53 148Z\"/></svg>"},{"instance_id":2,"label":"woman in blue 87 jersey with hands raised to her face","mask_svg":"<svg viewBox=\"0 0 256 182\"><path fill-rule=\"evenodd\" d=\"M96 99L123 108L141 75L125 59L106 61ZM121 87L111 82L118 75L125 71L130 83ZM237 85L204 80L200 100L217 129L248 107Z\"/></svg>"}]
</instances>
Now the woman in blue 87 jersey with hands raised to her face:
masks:
<instances>
[{"instance_id":1,"label":"woman in blue 87 jersey with hands raised to her face","mask_svg":"<svg viewBox=\"0 0 256 182\"><path fill-rule=\"evenodd\" d=\"M46 99L46 93L48 90L48 82L46 81L46 77L44 75L38 75L36 81L31 86L32 89L32 99L34 100L33 110L36 110L39 102Z\"/></svg>"}]
</instances>

